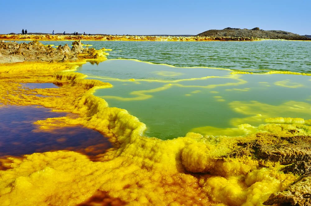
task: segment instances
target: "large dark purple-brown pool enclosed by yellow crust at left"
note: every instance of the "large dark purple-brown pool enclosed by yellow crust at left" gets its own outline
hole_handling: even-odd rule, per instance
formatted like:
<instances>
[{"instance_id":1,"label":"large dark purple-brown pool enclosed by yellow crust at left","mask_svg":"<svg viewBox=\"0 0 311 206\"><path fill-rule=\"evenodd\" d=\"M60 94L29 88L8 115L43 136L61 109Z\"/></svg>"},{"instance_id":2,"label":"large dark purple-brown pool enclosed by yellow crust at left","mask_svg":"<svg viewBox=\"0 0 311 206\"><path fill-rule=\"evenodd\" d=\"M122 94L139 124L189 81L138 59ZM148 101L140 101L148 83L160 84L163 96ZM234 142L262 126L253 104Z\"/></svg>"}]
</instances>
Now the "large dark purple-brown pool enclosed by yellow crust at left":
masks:
<instances>
[{"instance_id":1,"label":"large dark purple-brown pool enclosed by yellow crust at left","mask_svg":"<svg viewBox=\"0 0 311 206\"><path fill-rule=\"evenodd\" d=\"M111 143L97 131L81 126L40 131L34 124L47 117L66 116L44 107L0 107L0 156L19 156L34 152L71 150L96 155L111 148ZM87 151L87 152L86 152Z\"/></svg>"}]
</instances>

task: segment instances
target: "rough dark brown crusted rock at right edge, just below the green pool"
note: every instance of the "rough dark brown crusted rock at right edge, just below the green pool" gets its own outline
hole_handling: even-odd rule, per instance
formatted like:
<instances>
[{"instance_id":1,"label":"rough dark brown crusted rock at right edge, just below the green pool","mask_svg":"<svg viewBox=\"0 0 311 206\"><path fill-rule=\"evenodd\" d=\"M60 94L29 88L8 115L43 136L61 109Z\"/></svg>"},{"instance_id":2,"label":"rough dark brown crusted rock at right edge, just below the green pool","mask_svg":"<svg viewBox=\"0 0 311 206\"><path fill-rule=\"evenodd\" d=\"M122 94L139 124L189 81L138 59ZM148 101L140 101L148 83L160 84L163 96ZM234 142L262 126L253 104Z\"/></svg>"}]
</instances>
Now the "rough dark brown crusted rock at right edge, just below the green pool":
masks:
<instances>
[{"instance_id":1,"label":"rough dark brown crusted rock at right edge, just below the green pool","mask_svg":"<svg viewBox=\"0 0 311 206\"><path fill-rule=\"evenodd\" d=\"M284 172L306 176L311 174L311 137L278 137L257 134L251 141L240 141L233 145L228 157L255 156L258 159L288 165Z\"/></svg>"}]
</instances>

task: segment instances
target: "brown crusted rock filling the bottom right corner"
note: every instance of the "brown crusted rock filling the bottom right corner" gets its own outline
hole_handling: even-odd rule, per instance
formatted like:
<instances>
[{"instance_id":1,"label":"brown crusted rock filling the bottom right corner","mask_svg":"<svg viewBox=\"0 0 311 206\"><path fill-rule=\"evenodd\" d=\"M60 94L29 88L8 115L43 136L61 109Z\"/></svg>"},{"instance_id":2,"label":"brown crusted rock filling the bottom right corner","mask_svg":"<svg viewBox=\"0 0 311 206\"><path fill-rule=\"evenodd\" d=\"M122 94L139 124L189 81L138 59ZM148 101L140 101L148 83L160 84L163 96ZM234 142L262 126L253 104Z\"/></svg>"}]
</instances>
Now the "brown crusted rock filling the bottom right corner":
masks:
<instances>
[{"instance_id":1,"label":"brown crusted rock filling the bottom right corner","mask_svg":"<svg viewBox=\"0 0 311 206\"><path fill-rule=\"evenodd\" d=\"M287 189L270 195L263 204L311 206L311 177L302 178Z\"/></svg>"}]
</instances>

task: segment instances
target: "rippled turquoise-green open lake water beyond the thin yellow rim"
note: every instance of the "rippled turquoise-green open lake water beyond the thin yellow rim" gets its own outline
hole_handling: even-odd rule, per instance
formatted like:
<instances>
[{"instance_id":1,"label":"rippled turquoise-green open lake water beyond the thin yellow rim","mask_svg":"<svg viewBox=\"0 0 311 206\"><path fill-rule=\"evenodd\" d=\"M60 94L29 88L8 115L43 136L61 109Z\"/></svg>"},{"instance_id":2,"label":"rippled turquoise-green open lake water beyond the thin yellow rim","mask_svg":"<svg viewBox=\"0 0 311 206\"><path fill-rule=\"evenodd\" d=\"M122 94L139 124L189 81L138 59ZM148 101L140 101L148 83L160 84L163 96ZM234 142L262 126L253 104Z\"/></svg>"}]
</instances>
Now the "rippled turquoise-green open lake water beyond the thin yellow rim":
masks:
<instances>
[{"instance_id":1,"label":"rippled turquoise-green open lake water beyond the thin yellow rim","mask_svg":"<svg viewBox=\"0 0 311 206\"><path fill-rule=\"evenodd\" d=\"M27 41L29 42L29 41ZM71 46L72 41L40 41ZM109 59L138 59L176 67L217 67L237 71L311 73L311 41L123 42L82 41L109 51Z\"/></svg>"}]
</instances>

